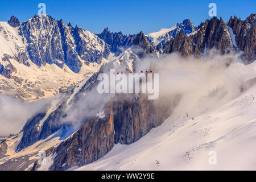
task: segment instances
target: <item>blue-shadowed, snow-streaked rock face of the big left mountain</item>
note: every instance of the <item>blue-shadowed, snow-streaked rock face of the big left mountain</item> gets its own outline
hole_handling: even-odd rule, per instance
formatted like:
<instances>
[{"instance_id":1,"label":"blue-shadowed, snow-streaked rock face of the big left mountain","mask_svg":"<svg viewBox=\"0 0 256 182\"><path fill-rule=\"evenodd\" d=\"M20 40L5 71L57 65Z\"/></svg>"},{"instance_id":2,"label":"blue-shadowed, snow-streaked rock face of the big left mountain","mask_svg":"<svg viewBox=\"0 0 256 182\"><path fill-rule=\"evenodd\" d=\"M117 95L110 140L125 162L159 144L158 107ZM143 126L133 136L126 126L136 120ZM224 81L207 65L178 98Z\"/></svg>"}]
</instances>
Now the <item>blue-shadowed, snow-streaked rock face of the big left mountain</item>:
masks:
<instances>
[{"instance_id":1,"label":"blue-shadowed, snow-streaked rock face of the big left mountain","mask_svg":"<svg viewBox=\"0 0 256 182\"><path fill-rule=\"evenodd\" d=\"M38 16L23 22L19 28L24 43L28 44L29 59L38 65L56 64L60 68L66 64L73 72L86 64L101 63L110 51L97 35L81 28L73 28L55 20L49 15ZM22 61L25 59L21 59Z\"/></svg>"}]
</instances>

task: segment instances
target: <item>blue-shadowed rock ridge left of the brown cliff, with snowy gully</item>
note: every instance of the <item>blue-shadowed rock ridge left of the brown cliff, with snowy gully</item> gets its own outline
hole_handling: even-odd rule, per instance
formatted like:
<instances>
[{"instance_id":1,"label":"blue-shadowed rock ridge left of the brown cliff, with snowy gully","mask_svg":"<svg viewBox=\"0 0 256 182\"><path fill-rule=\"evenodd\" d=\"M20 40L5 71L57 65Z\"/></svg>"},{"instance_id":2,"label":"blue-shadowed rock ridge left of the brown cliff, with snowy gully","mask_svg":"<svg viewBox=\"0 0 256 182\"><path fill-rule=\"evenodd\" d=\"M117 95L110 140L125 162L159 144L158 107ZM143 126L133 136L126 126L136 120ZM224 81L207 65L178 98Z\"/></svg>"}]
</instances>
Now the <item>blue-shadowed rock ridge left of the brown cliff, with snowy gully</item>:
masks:
<instances>
[{"instance_id":1,"label":"blue-shadowed rock ridge left of the brown cliff, with snowy gully","mask_svg":"<svg viewBox=\"0 0 256 182\"><path fill-rule=\"evenodd\" d=\"M71 90L64 93L63 99L61 99L61 101L57 103L56 106L47 105L45 109L46 111L38 113L32 118L28 119L26 125L22 129L23 135L18 146L16 147L16 151L18 152L23 150L24 148L31 146L41 139L46 139L49 137L49 135L52 135L53 133L63 129L63 127L69 127L69 125L60 121L63 117L65 117L65 114L67 113L68 105L75 104L80 97L84 96L86 91L91 90L98 83L97 77L101 72L102 69L100 72L97 72L92 77L90 77L89 80L86 81L84 85L82 85L79 92L74 93L76 88L73 87ZM72 94L75 94L75 96L73 96L71 101L68 103L68 99Z\"/></svg>"}]
</instances>

